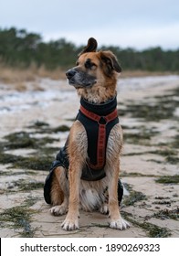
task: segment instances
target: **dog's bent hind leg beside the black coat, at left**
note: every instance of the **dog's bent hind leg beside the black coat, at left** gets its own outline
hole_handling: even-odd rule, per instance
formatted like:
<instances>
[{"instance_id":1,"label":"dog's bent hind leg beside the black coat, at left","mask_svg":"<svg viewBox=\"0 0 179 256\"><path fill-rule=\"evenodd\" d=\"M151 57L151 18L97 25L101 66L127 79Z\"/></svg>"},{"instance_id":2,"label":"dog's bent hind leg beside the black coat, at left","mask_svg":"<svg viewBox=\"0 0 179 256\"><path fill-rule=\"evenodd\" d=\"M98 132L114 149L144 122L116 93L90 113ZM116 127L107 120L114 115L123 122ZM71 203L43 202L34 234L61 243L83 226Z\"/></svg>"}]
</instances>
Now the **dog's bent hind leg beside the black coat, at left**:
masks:
<instances>
[{"instance_id":1,"label":"dog's bent hind leg beside the black coat, at left","mask_svg":"<svg viewBox=\"0 0 179 256\"><path fill-rule=\"evenodd\" d=\"M59 166L54 171L52 187L51 187L51 202L53 207L50 212L53 215L63 215L68 211L68 180L66 170Z\"/></svg>"}]
</instances>

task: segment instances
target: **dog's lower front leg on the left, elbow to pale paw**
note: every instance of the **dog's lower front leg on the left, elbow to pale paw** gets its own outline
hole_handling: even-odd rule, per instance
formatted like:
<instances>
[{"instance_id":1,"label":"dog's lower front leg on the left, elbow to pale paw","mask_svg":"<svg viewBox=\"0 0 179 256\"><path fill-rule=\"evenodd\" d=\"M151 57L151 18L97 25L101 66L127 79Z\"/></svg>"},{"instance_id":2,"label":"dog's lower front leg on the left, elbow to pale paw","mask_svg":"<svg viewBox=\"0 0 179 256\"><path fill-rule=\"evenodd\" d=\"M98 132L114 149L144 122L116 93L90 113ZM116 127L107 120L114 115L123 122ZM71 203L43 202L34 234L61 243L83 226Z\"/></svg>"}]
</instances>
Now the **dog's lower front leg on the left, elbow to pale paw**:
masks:
<instances>
[{"instance_id":1,"label":"dog's lower front leg on the left, elbow to pale paw","mask_svg":"<svg viewBox=\"0 0 179 256\"><path fill-rule=\"evenodd\" d=\"M78 159L71 159L69 164L69 204L68 215L62 223L65 230L79 229L79 184L81 169Z\"/></svg>"}]
</instances>

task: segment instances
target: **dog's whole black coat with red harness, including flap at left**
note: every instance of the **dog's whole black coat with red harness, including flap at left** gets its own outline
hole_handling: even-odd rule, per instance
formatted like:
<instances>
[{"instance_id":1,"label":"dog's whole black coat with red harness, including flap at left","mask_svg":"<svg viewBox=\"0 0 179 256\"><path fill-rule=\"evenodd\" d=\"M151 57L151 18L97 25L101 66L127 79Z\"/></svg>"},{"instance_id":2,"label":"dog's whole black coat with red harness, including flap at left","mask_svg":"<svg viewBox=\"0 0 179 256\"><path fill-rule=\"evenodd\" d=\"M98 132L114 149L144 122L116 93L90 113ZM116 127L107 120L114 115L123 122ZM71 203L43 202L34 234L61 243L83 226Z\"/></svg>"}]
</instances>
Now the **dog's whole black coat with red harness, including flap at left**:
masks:
<instances>
[{"instance_id":1,"label":"dog's whole black coat with red harness, including flap at left","mask_svg":"<svg viewBox=\"0 0 179 256\"><path fill-rule=\"evenodd\" d=\"M100 180L106 176L104 166L106 164L106 147L112 127L119 123L117 113L116 97L111 100L92 104L89 101L80 99L80 109L76 117L84 126L88 137L88 159L86 165L83 166L81 179L88 181ZM50 189L53 178L53 172L58 166L66 169L68 178L68 140L63 148L60 149L56 160L53 162L49 175L47 176L44 197L46 202L50 204Z\"/></svg>"}]
</instances>

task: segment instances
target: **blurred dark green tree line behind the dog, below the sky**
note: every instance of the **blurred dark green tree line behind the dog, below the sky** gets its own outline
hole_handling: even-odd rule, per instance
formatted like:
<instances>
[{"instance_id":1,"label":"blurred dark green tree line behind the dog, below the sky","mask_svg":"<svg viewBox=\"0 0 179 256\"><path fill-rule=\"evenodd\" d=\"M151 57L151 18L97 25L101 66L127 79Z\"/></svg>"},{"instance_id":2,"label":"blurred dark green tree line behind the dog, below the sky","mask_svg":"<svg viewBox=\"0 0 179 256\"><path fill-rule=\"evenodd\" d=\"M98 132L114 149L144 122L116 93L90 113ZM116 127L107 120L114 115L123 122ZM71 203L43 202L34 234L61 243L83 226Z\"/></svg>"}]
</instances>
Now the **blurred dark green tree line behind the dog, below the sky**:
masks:
<instances>
[{"instance_id":1,"label":"blurred dark green tree line behind the dog, below the sky","mask_svg":"<svg viewBox=\"0 0 179 256\"><path fill-rule=\"evenodd\" d=\"M74 65L82 48L83 46L77 47L65 38L44 42L39 34L28 33L26 29L0 28L0 63L10 67L28 68L35 64L37 68L44 66L46 69L67 69ZM156 47L136 50L103 46L100 49L110 49L125 70L179 70L179 48L163 50Z\"/></svg>"}]
</instances>

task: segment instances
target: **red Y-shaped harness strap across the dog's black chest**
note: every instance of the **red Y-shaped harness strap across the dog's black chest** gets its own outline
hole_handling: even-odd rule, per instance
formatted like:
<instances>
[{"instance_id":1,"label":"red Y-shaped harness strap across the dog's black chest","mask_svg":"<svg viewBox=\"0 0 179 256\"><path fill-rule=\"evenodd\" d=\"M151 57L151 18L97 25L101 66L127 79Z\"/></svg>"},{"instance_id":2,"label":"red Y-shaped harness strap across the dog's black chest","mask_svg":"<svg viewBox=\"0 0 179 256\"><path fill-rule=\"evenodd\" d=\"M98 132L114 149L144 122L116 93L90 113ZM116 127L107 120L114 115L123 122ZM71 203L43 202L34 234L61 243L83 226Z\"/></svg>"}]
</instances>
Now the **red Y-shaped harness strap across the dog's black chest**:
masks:
<instances>
[{"instance_id":1,"label":"red Y-shaped harness strap across the dog's black chest","mask_svg":"<svg viewBox=\"0 0 179 256\"><path fill-rule=\"evenodd\" d=\"M86 115L89 119L96 121L99 124L98 145L97 145L97 164L88 165L93 169L101 169L105 164L105 148L106 148L106 124L118 117L117 109L106 116L100 116L94 112L89 112L80 105L80 112Z\"/></svg>"}]
</instances>

